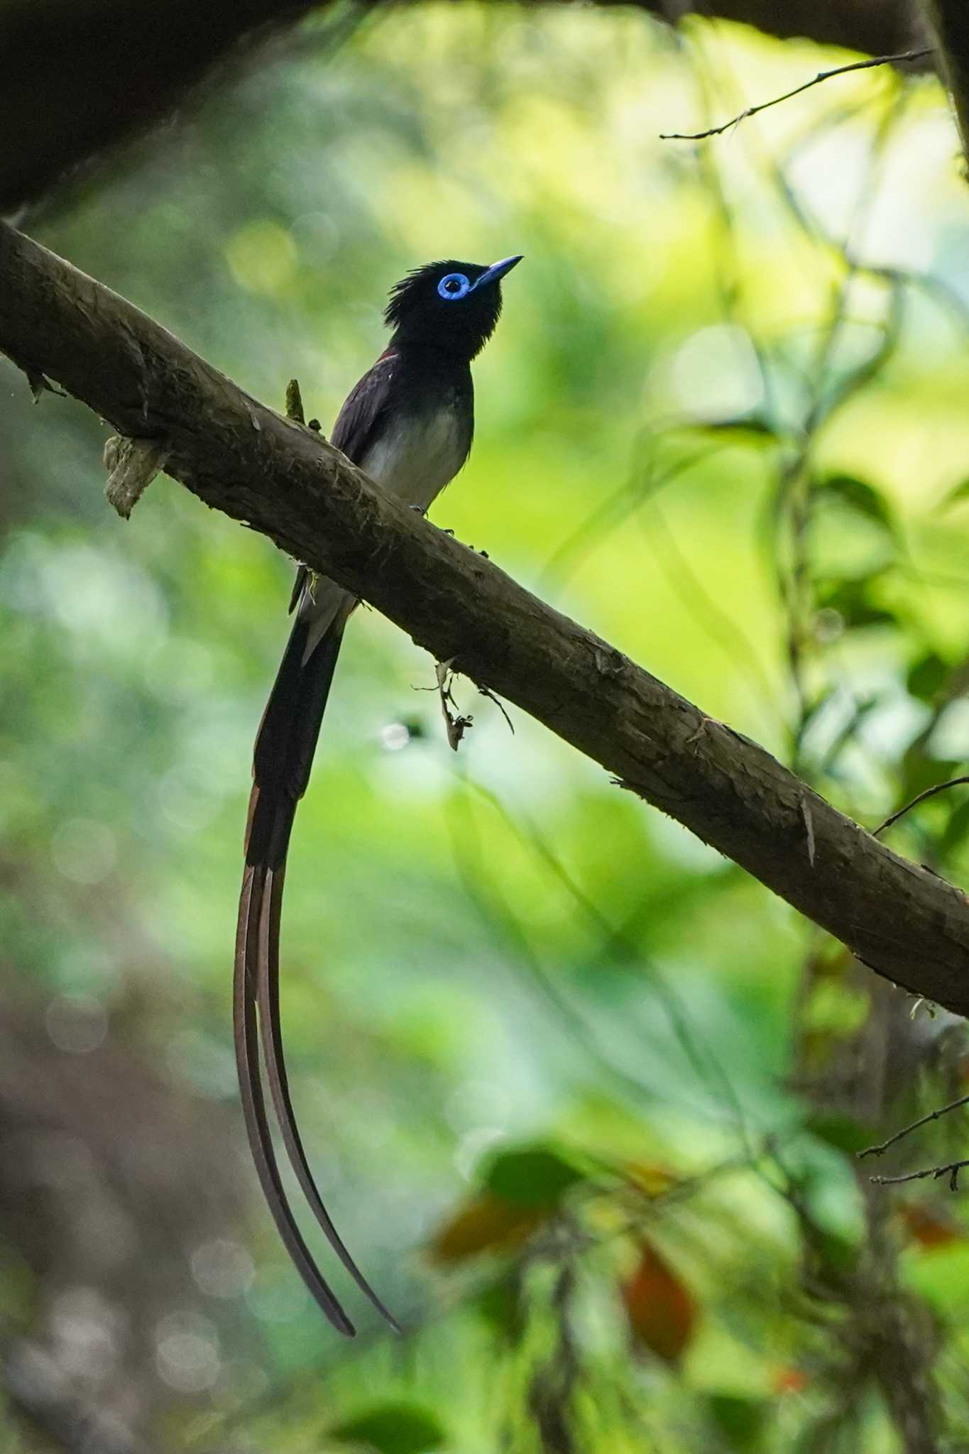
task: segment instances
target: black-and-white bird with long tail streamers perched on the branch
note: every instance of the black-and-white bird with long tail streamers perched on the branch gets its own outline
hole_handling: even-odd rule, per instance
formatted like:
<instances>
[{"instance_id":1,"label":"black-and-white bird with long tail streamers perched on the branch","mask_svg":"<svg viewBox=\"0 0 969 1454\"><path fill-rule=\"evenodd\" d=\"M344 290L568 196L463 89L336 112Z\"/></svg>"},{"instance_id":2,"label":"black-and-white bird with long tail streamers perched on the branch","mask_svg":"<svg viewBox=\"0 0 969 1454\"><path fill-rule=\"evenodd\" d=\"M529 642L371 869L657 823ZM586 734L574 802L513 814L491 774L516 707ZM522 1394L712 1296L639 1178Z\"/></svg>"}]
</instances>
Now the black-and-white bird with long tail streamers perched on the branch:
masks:
<instances>
[{"instance_id":1,"label":"black-and-white bird with long tail streamers perched on the branch","mask_svg":"<svg viewBox=\"0 0 969 1454\"><path fill-rule=\"evenodd\" d=\"M389 292L388 348L347 395L331 443L381 489L421 513L463 467L474 436L471 362L501 313L501 279L522 260L491 266L455 259L407 273ZM266 1082L296 1181L333 1250L386 1322L392 1313L360 1272L323 1202L289 1093L279 1013L279 935L286 853L296 804L309 782L324 708L356 596L305 566L289 605L293 624L253 749L246 868L238 904L232 1025L248 1144L279 1234L333 1326L354 1326L323 1277L282 1182L266 1108Z\"/></svg>"}]
</instances>

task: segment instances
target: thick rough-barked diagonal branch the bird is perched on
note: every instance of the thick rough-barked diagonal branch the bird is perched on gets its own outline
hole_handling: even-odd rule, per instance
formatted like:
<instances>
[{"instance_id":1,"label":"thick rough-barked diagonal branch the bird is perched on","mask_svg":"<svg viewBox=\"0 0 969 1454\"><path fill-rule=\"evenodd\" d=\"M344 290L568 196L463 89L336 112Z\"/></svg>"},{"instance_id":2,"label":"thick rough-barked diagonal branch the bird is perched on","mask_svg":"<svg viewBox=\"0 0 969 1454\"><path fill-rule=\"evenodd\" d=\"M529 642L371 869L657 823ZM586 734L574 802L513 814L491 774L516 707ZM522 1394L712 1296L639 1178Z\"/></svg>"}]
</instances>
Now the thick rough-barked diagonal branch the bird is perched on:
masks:
<instances>
[{"instance_id":1,"label":"thick rough-barked diagonal branch the bird is perched on","mask_svg":"<svg viewBox=\"0 0 969 1454\"><path fill-rule=\"evenodd\" d=\"M763 747L382 494L123 298L0 224L0 350L206 505L333 576L439 662L530 712L741 864L879 974L969 1013L966 896L877 842ZM240 765L243 771L243 765Z\"/></svg>"}]
</instances>

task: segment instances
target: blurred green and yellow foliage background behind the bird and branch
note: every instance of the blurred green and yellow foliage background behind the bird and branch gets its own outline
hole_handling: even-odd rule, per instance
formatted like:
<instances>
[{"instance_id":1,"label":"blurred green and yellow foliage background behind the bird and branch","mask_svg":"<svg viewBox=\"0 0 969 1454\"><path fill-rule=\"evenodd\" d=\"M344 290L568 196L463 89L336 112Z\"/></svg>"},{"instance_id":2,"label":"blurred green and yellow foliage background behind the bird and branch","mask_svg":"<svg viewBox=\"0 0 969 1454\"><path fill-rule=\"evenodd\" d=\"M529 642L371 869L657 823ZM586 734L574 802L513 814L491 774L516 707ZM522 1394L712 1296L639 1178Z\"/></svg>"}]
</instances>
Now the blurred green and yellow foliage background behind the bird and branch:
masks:
<instances>
[{"instance_id":1,"label":"blurred green and yellow foliage background behind the bird and branch","mask_svg":"<svg viewBox=\"0 0 969 1454\"><path fill-rule=\"evenodd\" d=\"M875 826L969 756L969 193L933 77L641 12L337 9L22 225L327 430L381 308L522 252L436 522ZM344 1343L230 1029L292 563L0 359L0 1447L969 1447L962 1021L375 612L288 875ZM969 797L889 840L969 875ZM315 1243L314 1243L315 1245ZM334 1259L324 1261L325 1268ZM346 1278L334 1274L341 1294Z\"/></svg>"}]
</instances>

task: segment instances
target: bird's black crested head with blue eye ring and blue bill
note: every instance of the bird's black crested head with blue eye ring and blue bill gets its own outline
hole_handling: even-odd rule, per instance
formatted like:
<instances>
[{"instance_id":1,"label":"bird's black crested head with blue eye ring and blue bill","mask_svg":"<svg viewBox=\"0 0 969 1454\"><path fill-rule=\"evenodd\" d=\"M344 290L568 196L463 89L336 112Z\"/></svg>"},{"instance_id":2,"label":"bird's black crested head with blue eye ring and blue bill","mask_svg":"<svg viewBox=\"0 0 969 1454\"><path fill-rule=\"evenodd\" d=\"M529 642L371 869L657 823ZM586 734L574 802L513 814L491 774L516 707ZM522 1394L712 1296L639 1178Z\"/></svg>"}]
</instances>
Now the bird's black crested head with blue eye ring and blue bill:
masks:
<instances>
[{"instance_id":1,"label":"bird's black crested head with blue eye ring and blue bill","mask_svg":"<svg viewBox=\"0 0 969 1454\"><path fill-rule=\"evenodd\" d=\"M522 257L482 268L449 259L415 268L391 289L384 310L392 343L472 359L501 313L501 279Z\"/></svg>"}]
</instances>

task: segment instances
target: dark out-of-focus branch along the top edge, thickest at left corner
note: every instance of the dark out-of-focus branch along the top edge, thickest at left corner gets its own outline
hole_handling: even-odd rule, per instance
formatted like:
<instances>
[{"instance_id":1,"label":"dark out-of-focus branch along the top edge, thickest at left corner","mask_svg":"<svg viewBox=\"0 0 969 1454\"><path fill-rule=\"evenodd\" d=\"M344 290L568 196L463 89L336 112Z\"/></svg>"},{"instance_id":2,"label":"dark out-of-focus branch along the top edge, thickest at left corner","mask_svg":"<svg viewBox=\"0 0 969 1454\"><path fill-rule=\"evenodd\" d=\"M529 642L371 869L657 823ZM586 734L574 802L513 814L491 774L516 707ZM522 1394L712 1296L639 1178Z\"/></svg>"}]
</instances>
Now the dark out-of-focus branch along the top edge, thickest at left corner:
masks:
<instances>
[{"instance_id":1,"label":"dark out-of-focus branch along the top edge, thickest at left corner","mask_svg":"<svg viewBox=\"0 0 969 1454\"><path fill-rule=\"evenodd\" d=\"M925 33L917 0L626 3L661 20L697 13L869 55L923 45ZM327 9L325 0L0 0L0 209L169 115L267 32Z\"/></svg>"}]
</instances>

